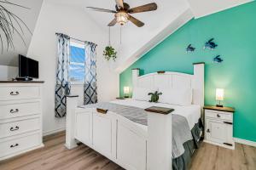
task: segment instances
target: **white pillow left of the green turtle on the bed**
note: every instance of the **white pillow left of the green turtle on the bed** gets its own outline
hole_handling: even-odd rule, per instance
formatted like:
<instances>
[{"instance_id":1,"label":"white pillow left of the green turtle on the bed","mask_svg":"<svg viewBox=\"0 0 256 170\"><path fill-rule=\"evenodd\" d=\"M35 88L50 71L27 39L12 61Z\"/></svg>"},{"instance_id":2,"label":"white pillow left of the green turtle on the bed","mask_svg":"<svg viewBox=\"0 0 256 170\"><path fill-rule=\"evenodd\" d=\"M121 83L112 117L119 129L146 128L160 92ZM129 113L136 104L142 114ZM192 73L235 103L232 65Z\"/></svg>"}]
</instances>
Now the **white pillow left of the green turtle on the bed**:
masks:
<instances>
[{"instance_id":1,"label":"white pillow left of the green turtle on the bed","mask_svg":"<svg viewBox=\"0 0 256 170\"><path fill-rule=\"evenodd\" d=\"M150 95L148 95L148 93L150 93L150 92L155 92L155 90L152 89L152 88L134 87L133 91L132 91L132 99L149 101L150 100Z\"/></svg>"}]
</instances>

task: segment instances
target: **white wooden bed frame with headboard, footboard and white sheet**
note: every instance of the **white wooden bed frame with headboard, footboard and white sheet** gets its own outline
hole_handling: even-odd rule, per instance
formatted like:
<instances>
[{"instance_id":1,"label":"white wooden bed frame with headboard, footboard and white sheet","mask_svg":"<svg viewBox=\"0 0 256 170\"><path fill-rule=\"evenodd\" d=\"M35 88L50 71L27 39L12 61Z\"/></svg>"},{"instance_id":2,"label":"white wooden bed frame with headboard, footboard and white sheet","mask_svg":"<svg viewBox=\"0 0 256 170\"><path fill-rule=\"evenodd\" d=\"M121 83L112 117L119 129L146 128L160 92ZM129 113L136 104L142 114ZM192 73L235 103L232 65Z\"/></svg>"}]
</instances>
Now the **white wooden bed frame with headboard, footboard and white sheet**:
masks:
<instances>
[{"instance_id":1,"label":"white wooden bed frame with headboard, footboard and white sheet","mask_svg":"<svg viewBox=\"0 0 256 170\"><path fill-rule=\"evenodd\" d=\"M113 104L145 109L162 106L175 109L172 114L183 116L192 129L204 105L204 63L194 65L194 75L165 72L139 76L132 71L133 88L191 88L192 105L149 103L135 99L115 100ZM172 114L148 112L148 126L131 122L124 116L96 108L79 108L77 96L67 96L66 147L73 149L82 142L128 170L172 169Z\"/></svg>"}]
</instances>

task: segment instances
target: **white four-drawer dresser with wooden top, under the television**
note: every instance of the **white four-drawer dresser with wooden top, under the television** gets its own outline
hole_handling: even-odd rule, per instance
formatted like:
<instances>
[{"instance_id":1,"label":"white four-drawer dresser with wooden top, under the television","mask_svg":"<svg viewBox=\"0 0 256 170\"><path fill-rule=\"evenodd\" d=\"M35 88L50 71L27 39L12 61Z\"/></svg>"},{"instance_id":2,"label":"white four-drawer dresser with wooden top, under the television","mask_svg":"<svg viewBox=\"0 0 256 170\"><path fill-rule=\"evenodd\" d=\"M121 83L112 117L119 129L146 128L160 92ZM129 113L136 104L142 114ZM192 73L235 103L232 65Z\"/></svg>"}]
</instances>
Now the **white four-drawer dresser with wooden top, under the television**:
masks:
<instances>
[{"instance_id":1,"label":"white four-drawer dresser with wooden top, under the television","mask_svg":"<svg viewBox=\"0 0 256 170\"><path fill-rule=\"evenodd\" d=\"M43 83L0 82L0 161L44 146Z\"/></svg>"}]
</instances>

